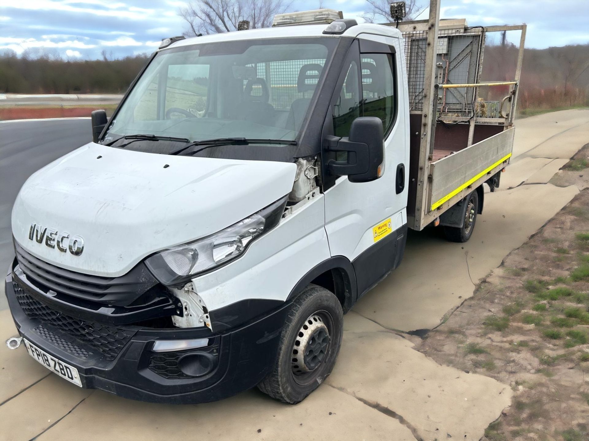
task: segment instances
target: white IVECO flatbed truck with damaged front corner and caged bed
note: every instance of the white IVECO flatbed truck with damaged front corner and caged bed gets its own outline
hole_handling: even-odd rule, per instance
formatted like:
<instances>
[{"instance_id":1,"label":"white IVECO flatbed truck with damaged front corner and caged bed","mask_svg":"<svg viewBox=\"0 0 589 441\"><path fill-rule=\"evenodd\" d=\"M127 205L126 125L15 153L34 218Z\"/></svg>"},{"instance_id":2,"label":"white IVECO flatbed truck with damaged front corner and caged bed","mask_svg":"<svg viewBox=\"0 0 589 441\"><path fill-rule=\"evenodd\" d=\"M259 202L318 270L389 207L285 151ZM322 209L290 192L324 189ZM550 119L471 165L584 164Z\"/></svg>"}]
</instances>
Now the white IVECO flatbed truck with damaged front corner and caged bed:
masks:
<instances>
[{"instance_id":1,"label":"white IVECO flatbed truck with damaged front corner and caged bed","mask_svg":"<svg viewBox=\"0 0 589 441\"><path fill-rule=\"evenodd\" d=\"M468 240L509 162L517 77L477 99L482 49L525 28L438 11L164 40L110 121L94 112L94 141L22 187L9 346L133 399L303 400L408 228Z\"/></svg>"}]
</instances>

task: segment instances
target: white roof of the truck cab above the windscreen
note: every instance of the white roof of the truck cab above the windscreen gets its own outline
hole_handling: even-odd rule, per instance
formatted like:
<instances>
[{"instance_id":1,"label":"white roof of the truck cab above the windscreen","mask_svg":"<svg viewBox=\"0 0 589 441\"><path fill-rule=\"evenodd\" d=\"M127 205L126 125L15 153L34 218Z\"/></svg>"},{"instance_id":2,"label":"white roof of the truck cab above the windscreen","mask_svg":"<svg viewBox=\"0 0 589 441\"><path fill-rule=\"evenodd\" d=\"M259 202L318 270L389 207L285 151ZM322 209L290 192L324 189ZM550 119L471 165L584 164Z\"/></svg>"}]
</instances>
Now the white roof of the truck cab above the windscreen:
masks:
<instances>
[{"instance_id":1,"label":"white roof of the truck cab above the windscreen","mask_svg":"<svg viewBox=\"0 0 589 441\"><path fill-rule=\"evenodd\" d=\"M235 31L235 32L223 32L221 34L203 35L200 37L187 38L184 40L177 41L167 48L161 49L165 51L168 48L178 48L181 46L192 46L204 43L217 43L223 41L237 41L237 40L257 40L257 39L268 39L268 38L289 38L289 37L314 37L323 36L327 38L337 38L340 36L356 37L359 34L376 34L386 35L393 38L401 38L401 32L391 26L375 25L363 23L355 26L351 26L346 29L343 34L332 35L323 34L323 30L326 28L325 24L315 25L297 25L297 26L277 26L276 28L262 28L262 29L250 29L249 31Z\"/></svg>"}]
</instances>

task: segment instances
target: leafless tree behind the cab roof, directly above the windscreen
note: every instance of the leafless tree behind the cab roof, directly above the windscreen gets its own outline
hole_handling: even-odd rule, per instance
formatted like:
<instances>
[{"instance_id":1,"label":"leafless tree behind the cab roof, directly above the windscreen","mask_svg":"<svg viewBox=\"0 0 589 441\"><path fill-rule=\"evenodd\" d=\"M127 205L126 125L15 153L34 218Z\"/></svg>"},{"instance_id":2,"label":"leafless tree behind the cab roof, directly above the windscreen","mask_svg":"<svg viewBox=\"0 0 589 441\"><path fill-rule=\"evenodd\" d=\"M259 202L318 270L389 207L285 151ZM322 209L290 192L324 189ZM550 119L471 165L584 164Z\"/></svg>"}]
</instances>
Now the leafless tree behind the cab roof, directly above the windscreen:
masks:
<instances>
[{"instance_id":1,"label":"leafless tree behind the cab roof, directly above the windscreen","mask_svg":"<svg viewBox=\"0 0 589 441\"><path fill-rule=\"evenodd\" d=\"M193 0L178 15L188 24L184 36L236 31L241 20L250 29L269 28L276 14L287 12L292 1L284 0Z\"/></svg>"}]
</instances>

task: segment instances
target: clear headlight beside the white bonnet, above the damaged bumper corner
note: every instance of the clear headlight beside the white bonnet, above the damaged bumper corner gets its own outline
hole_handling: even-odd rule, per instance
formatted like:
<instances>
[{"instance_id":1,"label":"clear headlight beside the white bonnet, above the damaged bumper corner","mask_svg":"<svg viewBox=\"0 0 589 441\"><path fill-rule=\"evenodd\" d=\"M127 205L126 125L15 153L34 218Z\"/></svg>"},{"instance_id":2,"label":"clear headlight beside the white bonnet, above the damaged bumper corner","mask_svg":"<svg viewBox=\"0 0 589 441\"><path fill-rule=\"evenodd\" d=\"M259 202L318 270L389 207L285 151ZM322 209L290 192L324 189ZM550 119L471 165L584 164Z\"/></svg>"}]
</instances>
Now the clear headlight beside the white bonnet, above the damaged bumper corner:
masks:
<instances>
[{"instance_id":1,"label":"clear headlight beside the white bonnet, above the damaged bumper corner","mask_svg":"<svg viewBox=\"0 0 589 441\"><path fill-rule=\"evenodd\" d=\"M164 250L145 259L161 283L180 286L194 275L236 259L253 239L280 222L288 196L220 232Z\"/></svg>"}]
</instances>

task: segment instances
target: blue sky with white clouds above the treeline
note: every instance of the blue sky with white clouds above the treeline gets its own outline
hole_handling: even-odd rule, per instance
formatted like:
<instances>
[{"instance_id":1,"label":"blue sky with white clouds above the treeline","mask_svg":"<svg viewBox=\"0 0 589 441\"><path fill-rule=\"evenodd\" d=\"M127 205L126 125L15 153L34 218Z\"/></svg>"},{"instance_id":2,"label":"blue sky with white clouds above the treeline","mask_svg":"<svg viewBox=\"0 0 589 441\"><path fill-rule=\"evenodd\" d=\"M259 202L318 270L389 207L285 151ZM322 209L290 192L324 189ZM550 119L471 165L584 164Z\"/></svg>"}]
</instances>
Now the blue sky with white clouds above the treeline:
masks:
<instances>
[{"instance_id":1,"label":"blue sky with white clouds above the treeline","mask_svg":"<svg viewBox=\"0 0 589 441\"><path fill-rule=\"evenodd\" d=\"M423 4L427 0L418 0ZM64 58L115 58L151 53L162 38L180 35L183 0L0 0L0 51L49 49ZM294 0L297 11L319 0ZM366 11L365 0L323 0L345 18ZM546 48L589 42L589 0L442 0L442 18L469 25L528 24L526 46ZM419 18L425 18L427 10ZM359 20L360 21L360 20ZM516 39L516 36L508 36Z\"/></svg>"}]
</instances>

